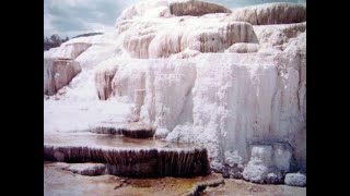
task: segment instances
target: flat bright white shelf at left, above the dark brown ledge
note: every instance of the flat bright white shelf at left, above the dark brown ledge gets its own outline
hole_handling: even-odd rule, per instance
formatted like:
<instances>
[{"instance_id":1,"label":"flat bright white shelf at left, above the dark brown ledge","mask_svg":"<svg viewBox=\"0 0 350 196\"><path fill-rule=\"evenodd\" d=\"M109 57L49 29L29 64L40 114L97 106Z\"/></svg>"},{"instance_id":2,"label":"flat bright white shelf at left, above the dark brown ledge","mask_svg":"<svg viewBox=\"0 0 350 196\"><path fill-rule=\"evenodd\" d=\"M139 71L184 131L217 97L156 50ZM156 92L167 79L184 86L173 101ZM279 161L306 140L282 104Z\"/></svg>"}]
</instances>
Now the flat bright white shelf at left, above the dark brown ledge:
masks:
<instances>
[{"instance_id":1,"label":"flat bright white shelf at left, above the dark brown ledge","mask_svg":"<svg viewBox=\"0 0 350 196\"><path fill-rule=\"evenodd\" d=\"M127 120L130 105L108 101L44 101L44 134L88 131L102 123Z\"/></svg>"}]
</instances>

